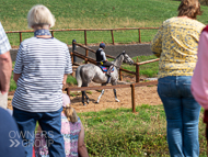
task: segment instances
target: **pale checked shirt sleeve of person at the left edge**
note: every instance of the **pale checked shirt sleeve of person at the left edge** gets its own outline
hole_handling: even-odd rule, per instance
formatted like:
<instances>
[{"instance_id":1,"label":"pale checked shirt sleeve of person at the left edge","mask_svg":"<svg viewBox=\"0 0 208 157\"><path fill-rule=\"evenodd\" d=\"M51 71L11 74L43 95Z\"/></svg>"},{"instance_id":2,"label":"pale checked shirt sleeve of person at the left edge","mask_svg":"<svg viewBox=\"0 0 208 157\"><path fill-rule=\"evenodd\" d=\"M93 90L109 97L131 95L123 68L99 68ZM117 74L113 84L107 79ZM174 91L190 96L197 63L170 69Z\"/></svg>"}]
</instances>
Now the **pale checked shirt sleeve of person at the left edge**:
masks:
<instances>
[{"instance_id":1,"label":"pale checked shirt sleeve of person at the left edge","mask_svg":"<svg viewBox=\"0 0 208 157\"><path fill-rule=\"evenodd\" d=\"M3 26L0 23L0 55L9 52L11 49L10 42L8 36L3 30Z\"/></svg>"}]
</instances>

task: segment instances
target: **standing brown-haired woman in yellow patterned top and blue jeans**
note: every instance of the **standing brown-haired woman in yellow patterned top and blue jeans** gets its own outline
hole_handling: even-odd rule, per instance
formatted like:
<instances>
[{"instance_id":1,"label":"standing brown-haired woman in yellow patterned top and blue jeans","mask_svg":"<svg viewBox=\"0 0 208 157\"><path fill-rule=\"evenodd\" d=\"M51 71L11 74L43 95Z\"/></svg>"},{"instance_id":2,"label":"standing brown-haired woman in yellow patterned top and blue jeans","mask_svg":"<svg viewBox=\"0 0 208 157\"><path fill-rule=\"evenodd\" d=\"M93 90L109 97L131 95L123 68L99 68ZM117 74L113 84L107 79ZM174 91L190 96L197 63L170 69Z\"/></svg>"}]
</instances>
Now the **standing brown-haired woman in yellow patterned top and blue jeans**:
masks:
<instances>
[{"instance_id":1,"label":"standing brown-haired woman in yellow patterned top and blue jeans","mask_svg":"<svg viewBox=\"0 0 208 157\"><path fill-rule=\"evenodd\" d=\"M198 157L200 105L190 92L190 79L197 61L198 41L205 25L198 0L182 0L178 15L162 23L151 43L160 58L158 93L166 115L169 150L172 157Z\"/></svg>"}]
</instances>

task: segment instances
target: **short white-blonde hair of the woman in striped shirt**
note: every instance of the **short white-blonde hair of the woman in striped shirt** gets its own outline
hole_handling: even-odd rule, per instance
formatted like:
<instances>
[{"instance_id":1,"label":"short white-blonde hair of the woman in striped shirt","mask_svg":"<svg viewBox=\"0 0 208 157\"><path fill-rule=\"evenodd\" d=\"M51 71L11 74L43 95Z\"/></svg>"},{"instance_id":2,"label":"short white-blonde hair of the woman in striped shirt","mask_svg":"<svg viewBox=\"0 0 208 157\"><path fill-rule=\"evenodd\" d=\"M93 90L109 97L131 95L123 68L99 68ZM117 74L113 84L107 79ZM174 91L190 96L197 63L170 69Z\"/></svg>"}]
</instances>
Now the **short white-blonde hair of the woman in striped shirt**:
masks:
<instances>
[{"instance_id":1,"label":"short white-blonde hair of the woman in striped shirt","mask_svg":"<svg viewBox=\"0 0 208 157\"><path fill-rule=\"evenodd\" d=\"M51 14L49 9L42 4L34 5L27 14L28 27L35 25L49 25L50 27L53 27L55 25L55 16Z\"/></svg>"}]
</instances>

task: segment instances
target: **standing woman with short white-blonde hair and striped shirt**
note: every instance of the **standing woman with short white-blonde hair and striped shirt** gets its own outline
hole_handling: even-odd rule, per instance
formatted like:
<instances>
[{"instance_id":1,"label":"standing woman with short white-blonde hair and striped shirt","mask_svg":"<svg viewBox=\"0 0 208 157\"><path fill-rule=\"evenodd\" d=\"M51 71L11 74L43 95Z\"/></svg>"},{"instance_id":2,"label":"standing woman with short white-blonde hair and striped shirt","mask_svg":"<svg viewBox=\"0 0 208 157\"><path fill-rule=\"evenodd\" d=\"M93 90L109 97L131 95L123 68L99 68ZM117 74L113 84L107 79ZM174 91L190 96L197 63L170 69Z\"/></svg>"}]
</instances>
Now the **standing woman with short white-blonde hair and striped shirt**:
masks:
<instances>
[{"instance_id":1,"label":"standing woman with short white-blonde hair and striped shirt","mask_svg":"<svg viewBox=\"0 0 208 157\"><path fill-rule=\"evenodd\" d=\"M62 83L72 74L67 44L53 37L49 29L55 18L45 5L33 7L27 14L34 36L19 48L13 79L16 90L12 100L13 116L20 128L26 157L32 157L36 122L46 133L50 157L65 157L60 133Z\"/></svg>"}]
</instances>

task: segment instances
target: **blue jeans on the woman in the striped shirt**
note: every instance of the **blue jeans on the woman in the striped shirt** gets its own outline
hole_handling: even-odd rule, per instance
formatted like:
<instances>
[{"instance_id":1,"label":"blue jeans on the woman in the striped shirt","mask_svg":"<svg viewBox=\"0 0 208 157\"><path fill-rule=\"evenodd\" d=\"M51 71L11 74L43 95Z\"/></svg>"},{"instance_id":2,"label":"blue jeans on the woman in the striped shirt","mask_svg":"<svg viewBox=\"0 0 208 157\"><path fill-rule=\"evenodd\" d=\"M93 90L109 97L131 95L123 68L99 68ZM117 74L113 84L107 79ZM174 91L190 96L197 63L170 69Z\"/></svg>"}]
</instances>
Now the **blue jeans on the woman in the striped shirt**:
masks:
<instances>
[{"instance_id":1,"label":"blue jeans on the woman in the striped shirt","mask_svg":"<svg viewBox=\"0 0 208 157\"><path fill-rule=\"evenodd\" d=\"M13 108L13 116L23 138L26 157L32 157L36 121L45 134L50 157L66 157L65 141L60 133L62 108L55 112L26 112Z\"/></svg>"}]
</instances>

